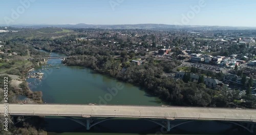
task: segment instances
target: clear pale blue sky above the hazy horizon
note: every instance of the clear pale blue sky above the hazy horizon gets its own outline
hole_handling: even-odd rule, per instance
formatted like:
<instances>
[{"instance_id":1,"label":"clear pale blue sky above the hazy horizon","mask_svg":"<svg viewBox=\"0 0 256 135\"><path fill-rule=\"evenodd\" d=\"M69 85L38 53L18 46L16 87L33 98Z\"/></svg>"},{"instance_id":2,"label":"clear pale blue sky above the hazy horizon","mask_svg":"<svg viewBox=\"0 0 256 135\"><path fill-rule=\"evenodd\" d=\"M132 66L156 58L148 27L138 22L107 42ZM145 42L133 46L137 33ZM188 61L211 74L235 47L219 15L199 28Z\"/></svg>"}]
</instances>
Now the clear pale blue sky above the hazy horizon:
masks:
<instances>
[{"instance_id":1,"label":"clear pale blue sky above the hazy horizon","mask_svg":"<svg viewBox=\"0 0 256 135\"><path fill-rule=\"evenodd\" d=\"M205 4L196 13L190 7L199 6L200 1ZM30 5L24 8L21 2ZM84 23L256 27L255 0L3 0L0 13L2 25Z\"/></svg>"}]
</instances>

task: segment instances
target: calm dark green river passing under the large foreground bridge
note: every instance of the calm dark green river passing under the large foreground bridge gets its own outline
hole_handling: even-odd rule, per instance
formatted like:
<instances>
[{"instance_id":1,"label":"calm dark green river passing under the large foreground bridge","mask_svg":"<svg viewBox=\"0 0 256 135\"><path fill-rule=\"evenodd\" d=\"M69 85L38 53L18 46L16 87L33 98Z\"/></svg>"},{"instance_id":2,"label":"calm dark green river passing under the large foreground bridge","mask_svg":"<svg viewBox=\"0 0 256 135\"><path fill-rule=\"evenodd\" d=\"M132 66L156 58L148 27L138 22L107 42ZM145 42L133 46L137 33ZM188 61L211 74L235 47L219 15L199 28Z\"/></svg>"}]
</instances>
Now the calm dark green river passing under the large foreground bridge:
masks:
<instances>
[{"instance_id":1,"label":"calm dark green river passing under the large foreground bridge","mask_svg":"<svg viewBox=\"0 0 256 135\"><path fill-rule=\"evenodd\" d=\"M50 56L65 55L51 53ZM34 72L44 73L44 77L41 81L35 78L29 78L27 79L27 82L32 91L42 91L44 103L96 103L157 106L169 104L164 103L157 97L145 93L143 88L120 82L109 76L97 74L93 70L81 66L63 65L60 59L50 59L47 62L47 65L41 66L40 69L37 69ZM122 85L123 87L118 89L117 85ZM110 91L114 92L114 94ZM48 131L48 134L165 134L164 131L161 131L161 128L158 125L138 119L112 119L98 124L90 131L87 131L85 127L69 119L46 117L45 120L46 123L43 127ZM217 134L223 133L223 131L230 129L231 127L231 124L224 122L200 121L181 125L171 133Z\"/></svg>"}]
</instances>

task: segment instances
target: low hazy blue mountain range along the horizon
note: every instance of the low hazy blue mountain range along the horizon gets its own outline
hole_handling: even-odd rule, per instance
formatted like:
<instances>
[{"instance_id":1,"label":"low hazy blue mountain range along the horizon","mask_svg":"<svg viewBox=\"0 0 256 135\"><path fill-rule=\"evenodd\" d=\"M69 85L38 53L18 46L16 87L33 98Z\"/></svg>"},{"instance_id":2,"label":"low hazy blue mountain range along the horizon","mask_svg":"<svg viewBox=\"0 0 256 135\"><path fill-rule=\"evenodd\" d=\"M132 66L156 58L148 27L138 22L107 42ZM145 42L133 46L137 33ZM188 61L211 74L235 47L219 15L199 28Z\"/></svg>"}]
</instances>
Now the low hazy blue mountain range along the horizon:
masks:
<instances>
[{"instance_id":1,"label":"low hazy blue mountain range along the horizon","mask_svg":"<svg viewBox=\"0 0 256 135\"><path fill-rule=\"evenodd\" d=\"M0 25L1 26L1 25ZM2 25L3 26L3 25ZM94 29L155 29L155 30L166 30L166 29L204 29L204 30L249 30L256 29L250 27L223 27L223 26L183 26L183 25L164 25L164 24L138 24L138 25L89 25L89 24L77 24L77 25L12 25L15 28L45 28L45 27L58 27L58 28L94 28Z\"/></svg>"}]
</instances>

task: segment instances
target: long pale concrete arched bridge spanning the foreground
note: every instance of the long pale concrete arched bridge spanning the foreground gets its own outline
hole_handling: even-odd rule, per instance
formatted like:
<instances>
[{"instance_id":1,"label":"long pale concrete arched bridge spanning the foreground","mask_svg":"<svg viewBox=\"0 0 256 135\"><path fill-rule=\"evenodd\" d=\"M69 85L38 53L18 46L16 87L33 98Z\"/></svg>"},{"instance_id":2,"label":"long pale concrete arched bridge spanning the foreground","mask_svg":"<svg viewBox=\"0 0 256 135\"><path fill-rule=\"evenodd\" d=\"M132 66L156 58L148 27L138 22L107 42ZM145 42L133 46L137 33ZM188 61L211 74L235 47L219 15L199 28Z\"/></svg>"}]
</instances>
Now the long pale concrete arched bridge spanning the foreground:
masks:
<instances>
[{"instance_id":1,"label":"long pale concrete arched bridge spanning the foreground","mask_svg":"<svg viewBox=\"0 0 256 135\"><path fill-rule=\"evenodd\" d=\"M1 114L12 116L61 116L69 118L90 130L94 125L112 118L141 118L154 122L167 131L195 120L226 121L239 125L253 133L256 123L256 109L200 108L200 107L161 107L161 106L125 106L125 105L71 105L71 104L1 104ZM87 119L83 123L72 117ZM105 118L95 122L96 118ZM163 123L155 121L163 120ZM172 120L188 120L170 125Z\"/></svg>"}]
</instances>

